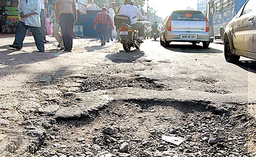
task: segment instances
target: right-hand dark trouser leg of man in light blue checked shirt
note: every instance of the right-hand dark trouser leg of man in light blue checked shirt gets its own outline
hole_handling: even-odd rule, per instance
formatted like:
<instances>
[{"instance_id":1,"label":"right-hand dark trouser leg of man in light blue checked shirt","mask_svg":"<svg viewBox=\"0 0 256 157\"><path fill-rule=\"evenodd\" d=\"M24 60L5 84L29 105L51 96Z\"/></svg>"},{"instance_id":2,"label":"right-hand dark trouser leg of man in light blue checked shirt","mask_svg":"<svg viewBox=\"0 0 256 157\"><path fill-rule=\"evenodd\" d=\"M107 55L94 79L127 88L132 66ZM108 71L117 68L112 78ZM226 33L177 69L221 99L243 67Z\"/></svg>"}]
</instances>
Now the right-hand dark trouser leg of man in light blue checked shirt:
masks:
<instances>
[{"instance_id":1,"label":"right-hand dark trouser leg of man in light blue checked shirt","mask_svg":"<svg viewBox=\"0 0 256 157\"><path fill-rule=\"evenodd\" d=\"M43 34L40 31L40 27L30 27L30 30L33 33L33 37L35 39L35 45L37 46L37 49L40 52L45 52L45 46L44 46L44 40L43 40Z\"/></svg>"}]
</instances>

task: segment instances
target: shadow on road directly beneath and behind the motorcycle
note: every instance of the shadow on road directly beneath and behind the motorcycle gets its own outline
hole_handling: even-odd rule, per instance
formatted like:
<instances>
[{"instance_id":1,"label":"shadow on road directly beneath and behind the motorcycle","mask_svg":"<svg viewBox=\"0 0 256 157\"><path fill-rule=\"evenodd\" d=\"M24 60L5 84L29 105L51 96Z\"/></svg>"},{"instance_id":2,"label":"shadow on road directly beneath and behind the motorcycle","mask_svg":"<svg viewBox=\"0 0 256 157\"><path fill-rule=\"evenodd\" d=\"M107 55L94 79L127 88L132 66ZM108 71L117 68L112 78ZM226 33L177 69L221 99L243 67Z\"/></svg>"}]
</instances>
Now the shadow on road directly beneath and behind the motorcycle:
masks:
<instances>
[{"instance_id":1,"label":"shadow on road directly beneath and behind the motorcycle","mask_svg":"<svg viewBox=\"0 0 256 157\"><path fill-rule=\"evenodd\" d=\"M120 51L119 53L114 53L111 55L106 55L106 58L111 60L114 63L132 63L137 59L143 57L145 53L139 51L138 49L130 52Z\"/></svg>"}]
</instances>

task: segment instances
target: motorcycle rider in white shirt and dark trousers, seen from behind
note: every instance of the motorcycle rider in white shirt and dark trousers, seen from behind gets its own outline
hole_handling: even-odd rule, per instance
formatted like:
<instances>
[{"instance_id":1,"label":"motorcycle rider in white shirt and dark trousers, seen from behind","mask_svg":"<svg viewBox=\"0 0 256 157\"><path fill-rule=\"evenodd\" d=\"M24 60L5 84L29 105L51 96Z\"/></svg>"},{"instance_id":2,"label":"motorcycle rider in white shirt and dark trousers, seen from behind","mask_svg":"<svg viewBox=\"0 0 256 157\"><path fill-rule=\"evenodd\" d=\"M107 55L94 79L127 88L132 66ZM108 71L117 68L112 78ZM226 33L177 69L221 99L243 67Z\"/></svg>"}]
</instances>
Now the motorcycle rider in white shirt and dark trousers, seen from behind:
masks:
<instances>
[{"instance_id":1,"label":"motorcycle rider in white shirt and dark trousers, seen from behind","mask_svg":"<svg viewBox=\"0 0 256 157\"><path fill-rule=\"evenodd\" d=\"M139 37L137 41L143 43L142 38L145 36L145 27L142 22L137 22L138 17L140 20L144 20L144 16L139 12L139 9L134 6L133 0L125 0L124 5L119 10L119 15L125 15L130 17L131 27L139 31Z\"/></svg>"}]
</instances>

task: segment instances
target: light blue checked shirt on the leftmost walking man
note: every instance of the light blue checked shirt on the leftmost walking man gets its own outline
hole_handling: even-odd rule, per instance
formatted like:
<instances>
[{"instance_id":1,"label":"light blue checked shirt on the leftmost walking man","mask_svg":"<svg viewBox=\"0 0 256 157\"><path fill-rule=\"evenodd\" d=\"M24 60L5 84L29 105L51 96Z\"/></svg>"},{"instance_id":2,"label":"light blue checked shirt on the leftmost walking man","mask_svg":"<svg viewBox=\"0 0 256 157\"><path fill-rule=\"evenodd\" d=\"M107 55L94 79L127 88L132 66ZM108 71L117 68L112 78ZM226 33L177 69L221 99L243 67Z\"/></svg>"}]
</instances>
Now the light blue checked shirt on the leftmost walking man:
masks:
<instances>
[{"instance_id":1,"label":"light blue checked shirt on the leftmost walking man","mask_svg":"<svg viewBox=\"0 0 256 157\"><path fill-rule=\"evenodd\" d=\"M28 0L28 3L26 0L19 0L18 11L24 15L35 12L36 14L28 16L28 18L21 18L20 22L23 22L26 26L41 27L41 8L38 0Z\"/></svg>"}]
</instances>

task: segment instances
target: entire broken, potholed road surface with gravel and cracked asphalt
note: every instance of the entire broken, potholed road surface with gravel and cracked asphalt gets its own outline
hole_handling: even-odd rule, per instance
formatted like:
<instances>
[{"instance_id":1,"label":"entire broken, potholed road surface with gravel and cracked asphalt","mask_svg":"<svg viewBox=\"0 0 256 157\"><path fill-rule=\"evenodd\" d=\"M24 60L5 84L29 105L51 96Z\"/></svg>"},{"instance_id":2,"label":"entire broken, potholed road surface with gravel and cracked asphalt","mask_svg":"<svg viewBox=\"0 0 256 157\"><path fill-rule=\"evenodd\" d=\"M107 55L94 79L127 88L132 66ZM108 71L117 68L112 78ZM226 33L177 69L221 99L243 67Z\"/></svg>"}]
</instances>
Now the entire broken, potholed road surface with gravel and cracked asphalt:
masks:
<instances>
[{"instance_id":1,"label":"entire broken, potholed road surface with gravel and cracked asphalt","mask_svg":"<svg viewBox=\"0 0 256 157\"><path fill-rule=\"evenodd\" d=\"M1 157L256 156L255 61L228 64L220 44L26 40L1 45Z\"/></svg>"}]
</instances>

